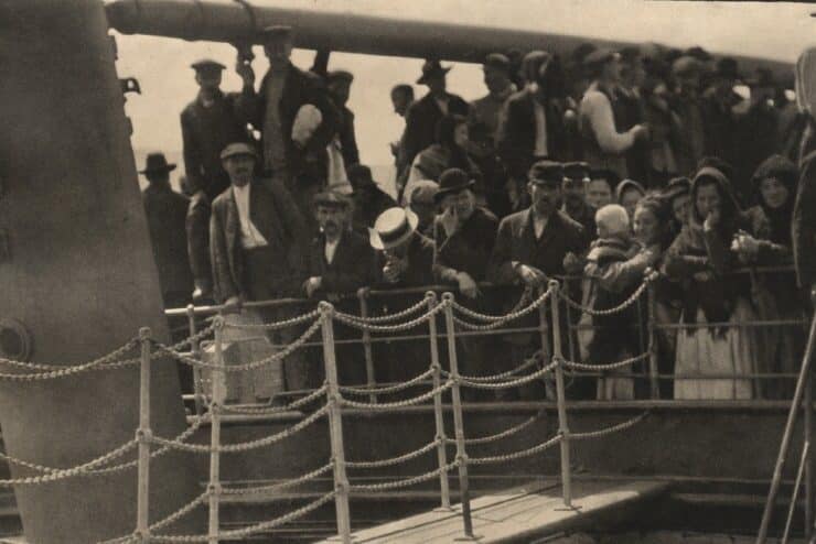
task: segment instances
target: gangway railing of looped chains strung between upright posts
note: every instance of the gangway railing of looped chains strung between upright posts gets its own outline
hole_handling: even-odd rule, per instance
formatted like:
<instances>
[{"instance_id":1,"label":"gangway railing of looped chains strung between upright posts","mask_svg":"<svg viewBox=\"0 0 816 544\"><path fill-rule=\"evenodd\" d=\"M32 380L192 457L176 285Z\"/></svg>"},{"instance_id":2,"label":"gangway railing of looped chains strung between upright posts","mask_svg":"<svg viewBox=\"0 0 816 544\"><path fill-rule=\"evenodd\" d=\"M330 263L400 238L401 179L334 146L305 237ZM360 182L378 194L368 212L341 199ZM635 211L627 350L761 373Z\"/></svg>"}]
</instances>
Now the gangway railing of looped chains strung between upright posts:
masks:
<instances>
[{"instance_id":1,"label":"gangway railing of looped chains strung between upright posts","mask_svg":"<svg viewBox=\"0 0 816 544\"><path fill-rule=\"evenodd\" d=\"M646 284L647 282L644 283L644 285ZM637 290L637 296L640 296L640 293L642 293L645 289L645 286L641 286L641 289ZM627 301L627 305L632 304L630 302L631 300L634 298L630 298ZM53 373L52 376L49 376L49 378L58 379L63 376L71 376L71 373L66 374L65 372L63 372L63 370L72 369L72 373L80 373L96 368L106 367L108 365L119 365L120 362L122 362L120 358L125 357L130 350L139 346L140 357L136 359L137 363L140 366L139 424L135 439L124 444L122 446L111 450L108 454L105 454L96 459L93 459L92 461L85 463L77 467L54 469L37 465L32 461L7 456L6 458L8 460L14 461L22 467L25 467L30 470L35 470L40 474L22 479L9 480L6 483L34 485L69 477L87 476L92 474L105 474L106 471L112 471L114 469L125 470L127 468L131 468L132 466L138 467L138 492L136 509L137 519L135 523L135 530L130 535L125 535L108 542L217 543L222 540L227 538L248 537L307 515L310 512L333 501L336 514L337 535L342 542L348 543L351 542L352 534L350 499L355 493L372 493L390 489L401 489L415 486L417 483L438 479L441 505L445 509L450 509L451 503L449 474L455 469L459 477L459 491L461 501L460 512L463 523L462 531L464 533L464 537L477 538L477 535L474 534L471 514L469 467L475 465L506 463L523 457L539 455L558 445L560 447L563 504L567 508L575 508L575 504L572 503L570 472L571 444L577 440L601 438L611 433L623 432L643 421L643 418L647 416L647 413L641 414L633 420L626 421L609 428L592 432L571 433L568 422L565 394L565 372L567 370L616 370L619 368L641 361L649 357L649 353L642 353L640 356L635 356L633 358L609 365L584 366L582 363L567 360L567 358L562 353L562 320L559 314L561 303L563 301L565 297L560 293L560 284L557 281L551 281L548 284L548 289L540 291L537 295L525 293L518 304L516 304L515 307L506 315L490 315L464 308L457 303L454 295L450 292L444 293L441 300L437 296L434 292L428 292L426 294L426 297L420 303L412 304L405 311L393 314L387 319L383 318L383 316L355 316L352 314L337 312L334 306L323 302L320 303L316 311L309 311L303 315L293 318L271 324L246 326L246 328L255 328L260 330L277 330L283 327L294 327L312 322L312 324L305 329L303 334L301 334L296 340L286 346L283 349L276 352L273 356L261 358L256 361L244 362L240 365L227 365L225 362L224 330L226 328L236 328L243 326L227 324L224 317L219 315L215 316L207 327L198 331L191 330L192 334L190 338L186 338L173 346L167 346L158 342L155 339L152 338L150 329L146 328L139 331L138 339L130 340L112 353L92 361L90 363L77 365L74 367L52 368L52 366L46 365L30 365L28 367L23 367L21 366L22 363L18 365L17 361L14 361L14 363L11 363L10 366L26 368L29 371L33 371L32 374L35 376L40 376L42 373ZM623 307L626 307L626 305L623 305L622 308ZM523 360L520 365L513 369L493 376L463 376L460 373L458 362L458 341L460 336L466 335L466 329L500 327L511 320L532 315L536 311L538 313L538 326L534 330L538 330L539 333L540 349L538 349L538 351L536 351L536 353L532 358ZM459 317L457 317L457 313L460 313L461 315L470 319L481 322L481 324L460 319ZM194 316L195 313L192 312L189 313L189 315ZM337 381L337 361L335 346L339 344L339 341L334 337L335 322L352 327L354 329L362 330L363 333L399 333L417 328L427 323L427 337L430 341L430 362L428 369L409 380L389 387L372 387L373 382L371 381L366 387L341 385ZM440 334L438 329L441 322L443 322L444 326L443 334ZM194 319L191 319L191 327L194 327ZM283 358L293 353L298 349L302 349L304 346L307 346L308 340L316 334L318 329L320 329L321 331L320 345L322 346L323 367L325 372L325 383L321 388L318 388L316 390L311 391L304 396L297 399L283 406L241 406L228 405L226 403L227 373L249 371L270 362L281 361ZM212 361L205 361L201 357L198 342L207 338L210 335L213 335L214 359ZM443 339L445 342L448 370L443 370L440 362L440 339ZM192 352L190 355L180 351L184 348L184 346L191 347ZM182 433L175 438L164 438L155 436L151 427L151 369L153 365L162 363L162 361L165 360L178 360L183 363L192 365L195 368L206 368L212 372L212 392L210 402L206 406L201 406L201 410L204 410L206 407L206 413L200 414L196 423L194 423L193 426L185 433ZM0 365L2 363L3 361L0 361ZM120 366L117 368L124 367ZM0 376L0 379L2 379L2 376ZM539 444L526 449L498 454L494 456L469 457L466 449L468 446L495 443L503 438L517 434L522 429L528 428L538 418L540 418L543 412L539 412L529 420L520 422L495 434L479 437L468 437L465 432L465 416L462 404L461 389L512 389L532 382L541 381L545 382L548 391L551 392L552 398L555 399L557 404L557 435L548 437L544 439L544 442L540 442ZM395 393L409 388L428 387L429 384L430 389L428 391L404 400L383 403L378 402L375 398L375 395L377 394ZM448 437L443 417L443 410L445 407L443 395L447 394L449 391L450 409L453 415L452 438ZM344 398L344 393L348 395L359 396L367 395L369 396L369 402L357 402ZM325 404L315 409L314 406L320 404L321 399L325 399ZM416 449L386 459L346 460L345 447L343 443L343 417L345 410L353 409L365 412L377 412L397 410L405 406L420 404L427 401L432 401L434 416L436 434L430 442L417 447ZM223 443L221 431L224 423L224 416L226 414L232 413L250 416L266 416L280 412L291 412L294 410L304 409L307 406L309 406L309 410L305 411L303 417L300 418L299 422L284 428L283 431L279 431L269 436L264 436L249 442L233 444ZM329 443L331 448L331 457L330 459L328 459L328 463L325 465L300 477L273 485L255 486L247 488L223 486L221 478L221 456L223 454L240 453L277 444L281 440L290 438L294 434L311 426L323 417L328 418ZM187 438L190 438L193 433L200 429L203 422L207 422L210 424L210 444L207 445L187 442ZM448 459L448 445L455 446L455 457L452 460ZM154 446L159 447L151 450L151 448L153 448ZM119 465L118 467L108 466L111 460L126 455L132 449L138 449L136 461L128 461ZM151 524L149 519L150 463L151 459L155 458L159 455L162 455L164 451L168 451L170 449L178 449L210 456L210 476L207 488L205 493L203 493L202 496L180 507L179 510L165 516L161 521ZM421 475L408 476L406 478L378 483L352 485L350 483L350 479L346 474L347 469L371 469L406 464L433 450L437 451L437 467L433 470L429 470ZM332 472L334 481L333 490L319 497L316 500L303 505L302 508L299 508L273 520L256 523L240 530L224 531L221 529L221 511L223 498L244 494L272 493L282 489L303 485L329 472ZM0 485L2 483L4 482L0 481ZM195 508L204 503L208 505L208 523L206 534L172 535L160 533L160 531L167 529L170 524L187 515Z\"/></svg>"}]
</instances>

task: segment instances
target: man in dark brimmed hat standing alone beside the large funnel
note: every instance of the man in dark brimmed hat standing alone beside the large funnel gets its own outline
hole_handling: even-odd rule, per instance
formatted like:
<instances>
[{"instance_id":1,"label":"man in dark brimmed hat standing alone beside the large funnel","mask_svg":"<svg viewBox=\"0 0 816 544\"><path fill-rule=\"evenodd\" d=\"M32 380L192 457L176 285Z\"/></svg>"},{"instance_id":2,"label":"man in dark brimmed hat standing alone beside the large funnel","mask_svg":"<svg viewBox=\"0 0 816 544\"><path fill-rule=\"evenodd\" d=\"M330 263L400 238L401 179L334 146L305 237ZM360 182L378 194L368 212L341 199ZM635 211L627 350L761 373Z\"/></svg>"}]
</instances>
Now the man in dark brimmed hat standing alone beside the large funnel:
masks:
<instances>
[{"instance_id":1,"label":"man in dark brimmed hat standing alone beside the large funnel","mask_svg":"<svg viewBox=\"0 0 816 544\"><path fill-rule=\"evenodd\" d=\"M193 293L184 225L189 200L170 186L173 170L175 164L168 163L164 153L154 152L148 154L144 168L139 171L150 184L142 192L142 204L162 298L168 308L186 305Z\"/></svg>"}]
</instances>

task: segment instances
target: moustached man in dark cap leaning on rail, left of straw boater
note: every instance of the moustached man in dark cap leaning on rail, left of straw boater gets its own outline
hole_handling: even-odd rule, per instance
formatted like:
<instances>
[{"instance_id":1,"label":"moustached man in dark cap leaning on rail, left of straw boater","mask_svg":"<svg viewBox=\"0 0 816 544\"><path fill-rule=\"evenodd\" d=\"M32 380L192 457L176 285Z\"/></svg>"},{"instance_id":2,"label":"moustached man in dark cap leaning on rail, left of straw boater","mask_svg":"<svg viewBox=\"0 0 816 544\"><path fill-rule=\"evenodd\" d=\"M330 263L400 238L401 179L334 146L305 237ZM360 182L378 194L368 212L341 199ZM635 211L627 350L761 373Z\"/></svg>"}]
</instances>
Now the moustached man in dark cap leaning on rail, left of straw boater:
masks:
<instances>
[{"instance_id":1,"label":"moustached man in dark cap leaning on rail, left of straw boater","mask_svg":"<svg viewBox=\"0 0 816 544\"><path fill-rule=\"evenodd\" d=\"M358 311L355 296L341 297L357 292L374 281L374 250L368 239L348 228L350 197L335 191L324 191L314 196L314 209L320 233L312 240L309 251L308 279L303 292L310 298L328 300L341 312ZM343 324L335 326L337 339L354 338L355 330ZM366 383L365 357L359 344L337 346L337 369L343 384ZM315 360L320 360L316 358ZM310 365L314 361L310 359ZM310 370L313 387L322 382L322 365Z\"/></svg>"}]
</instances>

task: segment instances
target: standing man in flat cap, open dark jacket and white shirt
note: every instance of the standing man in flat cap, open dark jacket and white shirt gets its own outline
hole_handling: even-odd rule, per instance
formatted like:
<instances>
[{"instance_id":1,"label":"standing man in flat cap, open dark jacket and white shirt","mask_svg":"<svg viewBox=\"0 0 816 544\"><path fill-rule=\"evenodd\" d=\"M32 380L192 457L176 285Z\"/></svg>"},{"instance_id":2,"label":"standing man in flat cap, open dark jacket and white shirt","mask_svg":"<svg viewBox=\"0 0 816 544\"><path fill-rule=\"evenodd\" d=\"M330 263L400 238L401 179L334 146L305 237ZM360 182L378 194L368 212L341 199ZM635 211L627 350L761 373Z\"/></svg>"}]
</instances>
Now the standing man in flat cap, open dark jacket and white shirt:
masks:
<instances>
[{"instance_id":1,"label":"standing man in flat cap, open dark jacket and white shirt","mask_svg":"<svg viewBox=\"0 0 816 544\"><path fill-rule=\"evenodd\" d=\"M258 152L253 145L230 143L221 153L232 185L213 202L210 224L211 259L216 301L225 312L239 311L245 301L267 301L300 294L305 278L307 229L292 196L281 181L256 176ZM291 306L259 311L266 320L298 314ZM269 331L276 344L289 344L296 327ZM302 350L283 361L287 388L308 385Z\"/></svg>"}]
</instances>

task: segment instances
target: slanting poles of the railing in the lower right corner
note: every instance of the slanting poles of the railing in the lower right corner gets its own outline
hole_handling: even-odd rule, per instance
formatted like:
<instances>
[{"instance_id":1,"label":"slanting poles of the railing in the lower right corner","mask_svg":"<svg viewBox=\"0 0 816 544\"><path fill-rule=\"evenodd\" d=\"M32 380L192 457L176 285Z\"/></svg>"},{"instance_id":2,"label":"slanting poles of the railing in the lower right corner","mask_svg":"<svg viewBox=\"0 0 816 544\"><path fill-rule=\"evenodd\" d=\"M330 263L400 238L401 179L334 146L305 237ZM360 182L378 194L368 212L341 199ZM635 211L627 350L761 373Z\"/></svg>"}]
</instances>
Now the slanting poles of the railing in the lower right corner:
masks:
<instances>
[{"instance_id":1,"label":"slanting poles of the railing in the lower right corner","mask_svg":"<svg viewBox=\"0 0 816 544\"><path fill-rule=\"evenodd\" d=\"M816 306L816 285L812 286L810 301ZM802 482L802 471L805 467L810 464L809 444L810 444L810 412L813 411L813 399L810 389L813 387L813 376L810 373L810 365L813 362L814 344L816 344L816 316L810 319L810 331L807 336L807 347L805 348L805 356L802 359L802 368L799 369L799 378L796 381L796 390L793 394L793 402L791 402L791 409L787 412L787 422L785 423L785 431L782 434L782 443L780 444L780 453L776 456L776 465L773 469L773 479L771 480L771 489L767 492L767 499L765 501L765 509L762 513L762 521L760 522L759 534L756 535L756 544L764 544L767 538L767 530L771 523L771 515L773 514L773 508L776 503L776 494L780 490L780 483L782 482L782 469L785 467L785 459L787 458L788 449L791 448L791 438L793 437L793 428L796 425L796 416L798 415L799 406L802 405L802 399L806 399L804 406L805 412L805 445L802 449L802 457L799 460L799 469L797 471L796 483L794 487L793 499L791 500L791 512L788 513L788 521L785 527L785 534L783 542L787 541L790 531L791 519L793 518L793 510L796 508L796 497L798 493L798 487ZM808 470L809 472L809 470ZM809 478L807 481L809 488ZM810 497L808 491L807 497ZM810 524L813 504L806 501L805 508L805 534L809 538L813 531Z\"/></svg>"}]
</instances>

